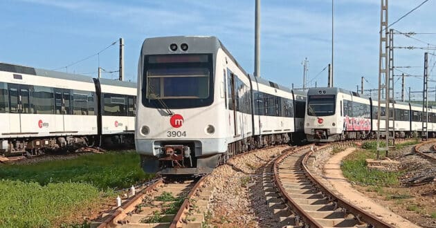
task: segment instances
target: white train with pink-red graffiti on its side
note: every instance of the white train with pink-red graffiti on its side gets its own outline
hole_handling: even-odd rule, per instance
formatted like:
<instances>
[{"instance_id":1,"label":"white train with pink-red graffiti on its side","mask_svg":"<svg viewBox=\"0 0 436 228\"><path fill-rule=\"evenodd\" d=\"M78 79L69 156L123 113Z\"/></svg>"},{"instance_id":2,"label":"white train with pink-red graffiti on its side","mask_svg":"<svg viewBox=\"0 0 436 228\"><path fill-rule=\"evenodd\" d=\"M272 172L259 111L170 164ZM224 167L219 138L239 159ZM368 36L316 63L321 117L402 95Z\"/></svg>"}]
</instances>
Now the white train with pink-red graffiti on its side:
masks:
<instances>
[{"instance_id":1,"label":"white train with pink-red graffiti on its side","mask_svg":"<svg viewBox=\"0 0 436 228\"><path fill-rule=\"evenodd\" d=\"M378 102L342 88L309 88L305 115L305 134L309 142L334 142L376 137ZM396 137L421 135L422 106L394 102ZM381 115L385 115L384 104ZM391 114L392 115L392 114ZM428 108L428 132L435 136L436 118ZM385 120L380 122L385 131Z\"/></svg>"}]
</instances>

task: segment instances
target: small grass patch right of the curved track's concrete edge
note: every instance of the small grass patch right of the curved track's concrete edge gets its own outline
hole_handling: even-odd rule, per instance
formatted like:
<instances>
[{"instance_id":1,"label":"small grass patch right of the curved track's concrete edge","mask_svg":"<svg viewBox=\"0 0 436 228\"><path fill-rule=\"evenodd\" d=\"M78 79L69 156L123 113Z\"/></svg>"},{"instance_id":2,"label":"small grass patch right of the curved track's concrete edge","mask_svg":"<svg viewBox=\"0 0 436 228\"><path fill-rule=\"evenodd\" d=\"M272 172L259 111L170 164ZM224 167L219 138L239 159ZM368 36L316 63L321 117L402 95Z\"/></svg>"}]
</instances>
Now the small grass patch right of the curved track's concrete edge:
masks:
<instances>
[{"instance_id":1,"label":"small grass patch right of the curved track's concrete edge","mask_svg":"<svg viewBox=\"0 0 436 228\"><path fill-rule=\"evenodd\" d=\"M401 172L388 172L367 169L367 158L376 158L374 149L358 150L343 161L341 167L345 178L352 182L376 186L397 186Z\"/></svg>"}]
</instances>

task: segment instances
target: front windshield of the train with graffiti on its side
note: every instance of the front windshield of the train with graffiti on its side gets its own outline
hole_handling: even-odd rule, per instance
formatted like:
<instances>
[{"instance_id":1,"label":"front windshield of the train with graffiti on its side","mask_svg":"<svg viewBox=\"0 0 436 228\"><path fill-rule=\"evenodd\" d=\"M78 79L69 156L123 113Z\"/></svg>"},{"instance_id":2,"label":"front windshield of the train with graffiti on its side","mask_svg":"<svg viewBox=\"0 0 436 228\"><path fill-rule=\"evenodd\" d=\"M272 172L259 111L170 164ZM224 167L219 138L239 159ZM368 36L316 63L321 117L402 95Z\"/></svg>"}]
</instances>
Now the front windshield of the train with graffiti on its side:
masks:
<instances>
[{"instance_id":1,"label":"front windshield of the train with graffiti on its side","mask_svg":"<svg viewBox=\"0 0 436 228\"><path fill-rule=\"evenodd\" d=\"M307 115L334 115L336 100L334 95L311 95L308 98Z\"/></svg>"}]
</instances>

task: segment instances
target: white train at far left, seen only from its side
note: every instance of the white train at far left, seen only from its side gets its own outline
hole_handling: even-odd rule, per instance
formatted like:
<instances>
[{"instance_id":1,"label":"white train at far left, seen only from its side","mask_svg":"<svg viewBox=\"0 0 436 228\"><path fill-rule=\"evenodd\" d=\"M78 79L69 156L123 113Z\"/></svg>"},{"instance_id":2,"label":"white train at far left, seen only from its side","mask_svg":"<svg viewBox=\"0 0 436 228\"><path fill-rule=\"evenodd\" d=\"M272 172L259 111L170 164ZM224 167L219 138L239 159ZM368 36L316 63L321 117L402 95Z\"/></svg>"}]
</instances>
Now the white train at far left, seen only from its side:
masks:
<instances>
[{"instance_id":1,"label":"white train at far left, seen only from its side","mask_svg":"<svg viewBox=\"0 0 436 228\"><path fill-rule=\"evenodd\" d=\"M0 153L134 142L135 106L135 83L0 63Z\"/></svg>"}]
</instances>

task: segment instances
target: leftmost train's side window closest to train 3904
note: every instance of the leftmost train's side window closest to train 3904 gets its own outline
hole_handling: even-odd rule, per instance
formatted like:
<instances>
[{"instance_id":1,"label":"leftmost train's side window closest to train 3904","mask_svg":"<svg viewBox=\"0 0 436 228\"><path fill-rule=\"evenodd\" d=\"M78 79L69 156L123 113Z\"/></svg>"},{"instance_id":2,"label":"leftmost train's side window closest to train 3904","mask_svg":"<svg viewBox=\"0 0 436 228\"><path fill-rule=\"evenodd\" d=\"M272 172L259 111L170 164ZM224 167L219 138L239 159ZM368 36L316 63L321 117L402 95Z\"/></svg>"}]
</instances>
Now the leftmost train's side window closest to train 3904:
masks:
<instances>
[{"instance_id":1,"label":"leftmost train's side window closest to train 3904","mask_svg":"<svg viewBox=\"0 0 436 228\"><path fill-rule=\"evenodd\" d=\"M127 97L125 95L105 93L103 97L104 115L127 116Z\"/></svg>"}]
</instances>

